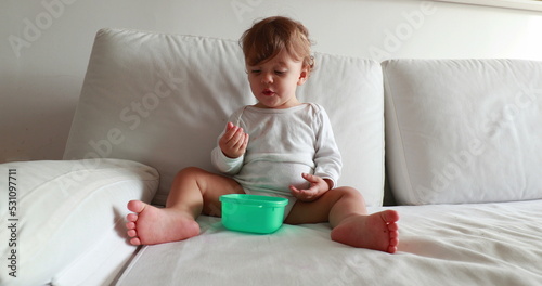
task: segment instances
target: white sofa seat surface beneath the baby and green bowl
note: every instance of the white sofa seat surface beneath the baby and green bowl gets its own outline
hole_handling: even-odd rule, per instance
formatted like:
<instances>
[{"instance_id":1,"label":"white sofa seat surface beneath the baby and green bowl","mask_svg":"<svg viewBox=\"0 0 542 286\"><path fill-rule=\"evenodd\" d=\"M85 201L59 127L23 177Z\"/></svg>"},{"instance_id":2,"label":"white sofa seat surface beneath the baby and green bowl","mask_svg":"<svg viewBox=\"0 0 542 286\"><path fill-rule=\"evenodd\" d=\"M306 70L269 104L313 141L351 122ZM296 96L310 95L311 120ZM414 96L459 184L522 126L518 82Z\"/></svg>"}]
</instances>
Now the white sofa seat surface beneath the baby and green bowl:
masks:
<instances>
[{"instance_id":1,"label":"white sofa seat surface beneath the baby and green bowl","mask_svg":"<svg viewBox=\"0 0 542 286\"><path fill-rule=\"evenodd\" d=\"M393 209L395 255L331 242L324 223L253 235L201 217L202 235L143 247L117 285L542 285L542 200Z\"/></svg>"}]
</instances>

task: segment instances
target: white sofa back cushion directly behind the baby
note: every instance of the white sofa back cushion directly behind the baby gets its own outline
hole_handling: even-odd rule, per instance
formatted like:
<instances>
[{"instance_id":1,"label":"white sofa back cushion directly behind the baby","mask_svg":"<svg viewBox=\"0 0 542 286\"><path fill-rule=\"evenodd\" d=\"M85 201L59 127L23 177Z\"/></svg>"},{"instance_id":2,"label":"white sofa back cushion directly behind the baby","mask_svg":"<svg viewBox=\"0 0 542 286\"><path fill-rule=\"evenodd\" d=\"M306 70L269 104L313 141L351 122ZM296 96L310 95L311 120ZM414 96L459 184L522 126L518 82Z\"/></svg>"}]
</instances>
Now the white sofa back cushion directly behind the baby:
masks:
<instances>
[{"instance_id":1,"label":"white sofa back cushion directly behind the baby","mask_svg":"<svg viewBox=\"0 0 542 286\"><path fill-rule=\"evenodd\" d=\"M344 168L339 185L379 206L384 188L384 90L378 63L315 53L298 90L324 106ZM164 205L175 174L214 171L210 152L236 108L254 104L236 41L144 31L98 32L64 159L111 157L156 168Z\"/></svg>"}]
</instances>

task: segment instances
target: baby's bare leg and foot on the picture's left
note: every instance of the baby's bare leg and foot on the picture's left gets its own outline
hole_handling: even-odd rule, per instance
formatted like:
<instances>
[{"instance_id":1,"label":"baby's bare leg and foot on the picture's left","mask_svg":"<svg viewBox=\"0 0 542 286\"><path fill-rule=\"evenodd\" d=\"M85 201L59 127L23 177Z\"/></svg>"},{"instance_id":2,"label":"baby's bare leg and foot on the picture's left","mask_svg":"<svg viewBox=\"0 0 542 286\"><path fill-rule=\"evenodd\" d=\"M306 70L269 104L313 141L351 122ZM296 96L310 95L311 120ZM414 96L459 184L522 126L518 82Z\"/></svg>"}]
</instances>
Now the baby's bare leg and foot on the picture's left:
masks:
<instances>
[{"instance_id":1,"label":"baby's bare leg and foot on the picture's left","mask_svg":"<svg viewBox=\"0 0 542 286\"><path fill-rule=\"evenodd\" d=\"M127 216L130 243L154 245L196 236L197 217L202 212L220 217L219 197L232 193L243 193L243 188L230 178L198 168L183 169L173 180L165 208L140 200L128 203L128 209L134 212Z\"/></svg>"}]
</instances>

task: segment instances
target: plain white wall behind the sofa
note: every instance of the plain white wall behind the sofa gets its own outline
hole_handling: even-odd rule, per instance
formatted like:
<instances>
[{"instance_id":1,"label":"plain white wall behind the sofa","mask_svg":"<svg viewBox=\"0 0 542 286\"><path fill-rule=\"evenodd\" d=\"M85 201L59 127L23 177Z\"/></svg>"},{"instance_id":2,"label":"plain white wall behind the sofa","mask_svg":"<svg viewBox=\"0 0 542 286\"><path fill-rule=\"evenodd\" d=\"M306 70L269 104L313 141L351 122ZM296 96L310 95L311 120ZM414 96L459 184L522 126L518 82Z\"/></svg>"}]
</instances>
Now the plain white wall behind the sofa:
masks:
<instances>
[{"instance_id":1,"label":"plain white wall behind the sofa","mask_svg":"<svg viewBox=\"0 0 542 286\"><path fill-rule=\"evenodd\" d=\"M5 0L0 162L62 157L98 29L237 39L274 14L301 21L320 52L542 60L542 12L415 0Z\"/></svg>"}]
</instances>

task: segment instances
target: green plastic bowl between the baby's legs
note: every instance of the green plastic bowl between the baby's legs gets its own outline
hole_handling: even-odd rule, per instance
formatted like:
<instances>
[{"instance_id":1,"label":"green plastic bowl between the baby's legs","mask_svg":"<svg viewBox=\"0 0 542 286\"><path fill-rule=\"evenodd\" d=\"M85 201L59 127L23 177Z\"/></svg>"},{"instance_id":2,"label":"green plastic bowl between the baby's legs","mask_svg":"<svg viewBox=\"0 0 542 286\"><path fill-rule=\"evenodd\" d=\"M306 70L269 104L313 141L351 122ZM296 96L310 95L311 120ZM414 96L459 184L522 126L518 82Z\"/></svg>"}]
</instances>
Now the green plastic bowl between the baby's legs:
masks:
<instances>
[{"instance_id":1,"label":"green plastic bowl between the baby's legs","mask_svg":"<svg viewBox=\"0 0 542 286\"><path fill-rule=\"evenodd\" d=\"M231 194L220 196L222 224L232 231L273 233L284 220L287 198Z\"/></svg>"}]
</instances>

